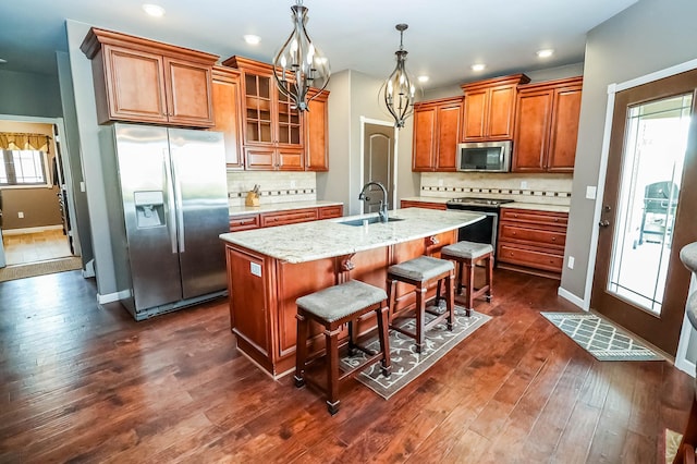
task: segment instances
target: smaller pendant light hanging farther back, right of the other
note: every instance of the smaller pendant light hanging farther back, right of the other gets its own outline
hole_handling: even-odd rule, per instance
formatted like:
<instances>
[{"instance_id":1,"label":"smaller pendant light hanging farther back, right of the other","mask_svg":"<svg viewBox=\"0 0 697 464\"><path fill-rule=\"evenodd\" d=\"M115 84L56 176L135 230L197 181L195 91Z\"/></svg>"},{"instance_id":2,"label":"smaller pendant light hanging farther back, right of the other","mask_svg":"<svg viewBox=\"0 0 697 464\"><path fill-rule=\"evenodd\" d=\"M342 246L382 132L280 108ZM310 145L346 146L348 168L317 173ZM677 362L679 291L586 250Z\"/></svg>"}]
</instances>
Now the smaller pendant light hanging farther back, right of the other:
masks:
<instances>
[{"instance_id":1,"label":"smaller pendant light hanging farther back, right of the other","mask_svg":"<svg viewBox=\"0 0 697 464\"><path fill-rule=\"evenodd\" d=\"M402 45L404 30L407 24L394 26L400 32L400 49L394 52L396 56L396 68L390 77L382 84L382 95L388 111L394 118L394 126L404 127L404 121L414 113L414 80L406 72L406 54Z\"/></svg>"}]
</instances>

